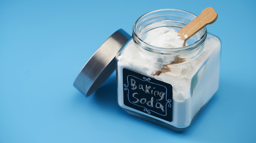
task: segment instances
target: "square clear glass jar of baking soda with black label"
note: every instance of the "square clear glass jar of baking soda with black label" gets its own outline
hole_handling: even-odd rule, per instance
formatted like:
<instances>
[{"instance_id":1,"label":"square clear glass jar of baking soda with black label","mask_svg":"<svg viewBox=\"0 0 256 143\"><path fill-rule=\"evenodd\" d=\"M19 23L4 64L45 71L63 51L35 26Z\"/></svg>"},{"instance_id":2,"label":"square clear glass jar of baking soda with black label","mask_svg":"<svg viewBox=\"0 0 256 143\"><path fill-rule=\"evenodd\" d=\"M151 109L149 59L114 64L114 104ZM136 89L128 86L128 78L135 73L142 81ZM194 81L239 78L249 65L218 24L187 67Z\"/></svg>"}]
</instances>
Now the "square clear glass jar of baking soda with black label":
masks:
<instances>
[{"instance_id":1,"label":"square clear glass jar of baking soda with black label","mask_svg":"<svg viewBox=\"0 0 256 143\"><path fill-rule=\"evenodd\" d=\"M116 56L122 109L176 132L183 132L202 112L218 90L221 41L204 27L184 47L149 44L194 18L187 11L160 9L135 22L132 38Z\"/></svg>"}]
</instances>

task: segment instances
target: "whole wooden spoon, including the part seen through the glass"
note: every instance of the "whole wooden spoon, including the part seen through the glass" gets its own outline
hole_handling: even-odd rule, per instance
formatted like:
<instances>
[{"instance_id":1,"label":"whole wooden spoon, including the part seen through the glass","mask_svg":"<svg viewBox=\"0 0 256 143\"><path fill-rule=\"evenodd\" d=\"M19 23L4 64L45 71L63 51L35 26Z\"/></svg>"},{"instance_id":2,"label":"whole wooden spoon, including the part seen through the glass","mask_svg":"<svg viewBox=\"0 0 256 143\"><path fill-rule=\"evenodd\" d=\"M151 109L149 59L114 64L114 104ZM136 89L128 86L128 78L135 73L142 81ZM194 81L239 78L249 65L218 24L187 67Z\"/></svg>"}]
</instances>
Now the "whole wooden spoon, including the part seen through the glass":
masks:
<instances>
[{"instance_id":1,"label":"whole wooden spoon, including the part seen through the glass","mask_svg":"<svg viewBox=\"0 0 256 143\"><path fill-rule=\"evenodd\" d=\"M213 24L217 20L217 18L218 18L218 14L212 7L203 9L203 11L200 13L198 17L196 17L190 23L185 25L180 31L177 31L180 34L179 36L181 37L181 39L184 40L183 46L185 46L186 40L194 36L206 25ZM167 32L169 31L166 31L165 33ZM185 35L187 35L187 38L185 38ZM184 60L181 60L181 62L183 61ZM161 72L169 72L170 69L167 67L168 65L177 64L181 62L173 61L170 64L163 65L160 71L157 71L155 74L152 74L152 75L155 76L155 75L159 75Z\"/></svg>"}]
</instances>

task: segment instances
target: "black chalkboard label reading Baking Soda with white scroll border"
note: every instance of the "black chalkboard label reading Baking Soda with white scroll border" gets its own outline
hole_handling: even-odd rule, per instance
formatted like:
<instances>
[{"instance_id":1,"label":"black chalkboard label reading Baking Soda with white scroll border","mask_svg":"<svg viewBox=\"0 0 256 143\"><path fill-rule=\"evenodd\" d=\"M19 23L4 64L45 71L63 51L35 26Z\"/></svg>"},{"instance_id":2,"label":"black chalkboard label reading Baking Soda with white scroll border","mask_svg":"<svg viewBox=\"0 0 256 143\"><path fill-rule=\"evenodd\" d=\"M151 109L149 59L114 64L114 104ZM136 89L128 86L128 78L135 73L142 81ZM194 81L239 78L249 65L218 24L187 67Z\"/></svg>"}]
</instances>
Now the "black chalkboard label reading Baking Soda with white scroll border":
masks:
<instances>
[{"instance_id":1,"label":"black chalkboard label reading Baking Soda with white scroll border","mask_svg":"<svg viewBox=\"0 0 256 143\"><path fill-rule=\"evenodd\" d=\"M124 104L149 115L172 121L172 85L123 69Z\"/></svg>"}]
</instances>

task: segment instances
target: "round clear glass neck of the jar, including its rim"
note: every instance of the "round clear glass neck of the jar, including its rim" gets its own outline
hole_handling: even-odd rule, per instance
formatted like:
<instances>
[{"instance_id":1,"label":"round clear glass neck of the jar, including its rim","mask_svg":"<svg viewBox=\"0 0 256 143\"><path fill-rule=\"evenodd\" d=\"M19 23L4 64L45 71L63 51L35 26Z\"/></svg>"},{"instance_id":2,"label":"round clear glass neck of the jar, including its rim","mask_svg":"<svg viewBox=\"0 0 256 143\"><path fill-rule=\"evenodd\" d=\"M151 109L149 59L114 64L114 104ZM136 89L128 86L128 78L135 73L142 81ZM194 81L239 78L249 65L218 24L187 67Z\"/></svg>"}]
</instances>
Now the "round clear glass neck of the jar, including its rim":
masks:
<instances>
[{"instance_id":1,"label":"round clear glass neck of the jar, including its rim","mask_svg":"<svg viewBox=\"0 0 256 143\"><path fill-rule=\"evenodd\" d=\"M169 27L179 31L196 17L190 12L179 9L160 9L144 14L135 22L132 33L139 54L145 58L158 55L162 60L188 60L198 56L203 50L207 35L205 27L187 40L189 45L184 47L161 48L143 41L143 35L152 29Z\"/></svg>"}]
</instances>

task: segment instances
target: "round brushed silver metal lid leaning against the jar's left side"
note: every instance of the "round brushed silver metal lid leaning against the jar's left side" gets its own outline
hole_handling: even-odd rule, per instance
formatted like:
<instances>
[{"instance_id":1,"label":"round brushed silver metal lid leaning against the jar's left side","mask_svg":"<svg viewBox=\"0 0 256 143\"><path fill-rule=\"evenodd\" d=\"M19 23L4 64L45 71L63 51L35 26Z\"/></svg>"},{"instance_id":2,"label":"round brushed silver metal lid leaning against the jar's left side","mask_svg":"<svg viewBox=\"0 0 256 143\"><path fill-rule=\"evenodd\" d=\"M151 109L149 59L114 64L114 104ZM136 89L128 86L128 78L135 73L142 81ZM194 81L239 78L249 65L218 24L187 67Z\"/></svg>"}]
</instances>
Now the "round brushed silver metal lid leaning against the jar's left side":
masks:
<instances>
[{"instance_id":1,"label":"round brushed silver metal lid leaning against the jar's left side","mask_svg":"<svg viewBox=\"0 0 256 143\"><path fill-rule=\"evenodd\" d=\"M116 54L130 37L123 29L112 34L84 65L74 87L86 97L96 91L116 69Z\"/></svg>"}]
</instances>

